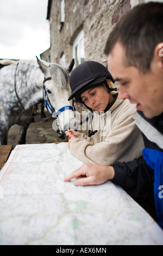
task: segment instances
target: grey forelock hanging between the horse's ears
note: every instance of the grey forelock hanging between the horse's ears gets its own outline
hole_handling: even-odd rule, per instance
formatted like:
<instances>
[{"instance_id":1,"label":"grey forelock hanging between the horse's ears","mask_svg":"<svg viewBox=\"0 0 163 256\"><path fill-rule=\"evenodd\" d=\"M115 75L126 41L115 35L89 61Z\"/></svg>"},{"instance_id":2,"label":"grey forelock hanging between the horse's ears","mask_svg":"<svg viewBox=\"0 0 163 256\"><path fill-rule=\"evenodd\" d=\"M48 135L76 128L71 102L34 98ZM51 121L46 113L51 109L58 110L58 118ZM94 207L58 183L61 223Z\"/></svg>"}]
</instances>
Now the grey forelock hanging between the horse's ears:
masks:
<instances>
[{"instance_id":1,"label":"grey forelock hanging between the horse's ears","mask_svg":"<svg viewBox=\"0 0 163 256\"><path fill-rule=\"evenodd\" d=\"M68 87L70 77L68 71L62 68L62 66L59 64L51 64L51 75L59 88Z\"/></svg>"}]
</instances>

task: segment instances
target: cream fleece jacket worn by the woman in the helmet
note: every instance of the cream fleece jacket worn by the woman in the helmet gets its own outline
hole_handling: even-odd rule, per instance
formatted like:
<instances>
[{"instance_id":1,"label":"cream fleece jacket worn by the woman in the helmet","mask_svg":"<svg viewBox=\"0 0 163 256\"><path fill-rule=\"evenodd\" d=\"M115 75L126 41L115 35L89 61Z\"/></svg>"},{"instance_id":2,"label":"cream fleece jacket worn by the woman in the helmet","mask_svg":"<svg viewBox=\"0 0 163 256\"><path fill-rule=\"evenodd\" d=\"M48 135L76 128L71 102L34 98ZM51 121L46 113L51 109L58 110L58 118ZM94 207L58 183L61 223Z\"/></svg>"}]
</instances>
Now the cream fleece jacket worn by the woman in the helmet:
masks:
<instances>
[{"instance_id":1,"label":"cream fleece jacket worn by the woman in the helmet","mask_svg":"<svg viewBox=\"0 0 163 256\"><path fill-rule=\"evenodd\" d=\"M70 143L71 153L83 162L104 165L139 158L144 144L133 119L135 113L135 104L117 97L109 111L101 115L94 113L93 131L98 132L92 136L93 142L90 137L77 132L77 138Z\"/></svg>"}]
</instances>

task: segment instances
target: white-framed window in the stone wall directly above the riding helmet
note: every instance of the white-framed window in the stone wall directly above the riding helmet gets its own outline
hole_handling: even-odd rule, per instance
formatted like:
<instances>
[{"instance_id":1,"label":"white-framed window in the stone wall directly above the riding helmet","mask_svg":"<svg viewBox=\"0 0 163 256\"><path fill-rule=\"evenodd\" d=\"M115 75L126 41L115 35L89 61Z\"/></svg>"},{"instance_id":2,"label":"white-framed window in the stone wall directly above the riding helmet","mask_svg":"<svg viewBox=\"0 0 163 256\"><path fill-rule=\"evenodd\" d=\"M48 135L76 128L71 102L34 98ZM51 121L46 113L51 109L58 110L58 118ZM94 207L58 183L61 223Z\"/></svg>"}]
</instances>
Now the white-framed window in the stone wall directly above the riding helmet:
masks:
<instances>
[{"instance_id":1,"label":"white-framed window in the stone wall directly above the riding helmet","mask_svg":"<svg viewBox=\"0 0 163 256\"><path fill-rule=\"evenodd\" d=\"M84 52L84 32L80 31L76 39L74 40L73 46L73 58L75 60L75 66L78 66L80 63L84 62L85 52Z\"/></svg>"}]
</instances>

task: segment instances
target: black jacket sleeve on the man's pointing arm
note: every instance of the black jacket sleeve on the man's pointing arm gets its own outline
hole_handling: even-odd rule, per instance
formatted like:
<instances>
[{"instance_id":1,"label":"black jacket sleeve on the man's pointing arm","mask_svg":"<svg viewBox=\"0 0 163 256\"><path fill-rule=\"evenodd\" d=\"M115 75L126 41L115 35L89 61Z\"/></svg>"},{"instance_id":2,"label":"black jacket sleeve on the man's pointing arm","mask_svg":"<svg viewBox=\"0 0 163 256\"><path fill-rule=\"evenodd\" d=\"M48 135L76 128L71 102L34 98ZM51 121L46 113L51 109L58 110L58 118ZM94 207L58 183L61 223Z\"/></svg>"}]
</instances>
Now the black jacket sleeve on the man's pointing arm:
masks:
<instances>
[{"instance_id":1,"label":"black jacket sleeve on the man's pointing arm","mask_svg":"<svg viewBox=\"0 0 163 256\"><path fill-rule=\"evenodd\" d=\"M154 172L143 156L133 161L111 164L115 170L112 182L121 186L127 193L143 194L153 191Z\"/></svg>"}]
</instances>

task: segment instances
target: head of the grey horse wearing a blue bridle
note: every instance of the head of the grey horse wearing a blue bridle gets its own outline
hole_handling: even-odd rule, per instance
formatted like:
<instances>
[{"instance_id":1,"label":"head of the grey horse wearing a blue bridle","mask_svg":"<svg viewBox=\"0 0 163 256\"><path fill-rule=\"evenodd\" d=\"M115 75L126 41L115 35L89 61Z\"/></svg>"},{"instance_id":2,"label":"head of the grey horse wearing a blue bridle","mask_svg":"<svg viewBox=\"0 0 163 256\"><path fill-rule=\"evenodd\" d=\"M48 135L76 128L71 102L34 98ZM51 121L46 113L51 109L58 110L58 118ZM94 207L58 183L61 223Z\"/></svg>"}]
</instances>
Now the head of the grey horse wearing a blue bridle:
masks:
<instances>
[{"instance_id":1,"label":"head of the grey horse wearing a blue bridle","mask_svg":"<svg viewBox=\"0 0 163 256\"><path fill-rule=\"evenodd\" d=\"M58 132L61 139L65 138L65 131L68 129L78 129L77 120L74 118L72 101L68 101L71 95L70 72L73 69L74 59L63 68L56 63L48 63L37 58L37 62L45 76L43 81L43 94L46 107L55 118L53 129Z\"/></svg>"}]
</instances>

